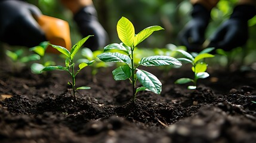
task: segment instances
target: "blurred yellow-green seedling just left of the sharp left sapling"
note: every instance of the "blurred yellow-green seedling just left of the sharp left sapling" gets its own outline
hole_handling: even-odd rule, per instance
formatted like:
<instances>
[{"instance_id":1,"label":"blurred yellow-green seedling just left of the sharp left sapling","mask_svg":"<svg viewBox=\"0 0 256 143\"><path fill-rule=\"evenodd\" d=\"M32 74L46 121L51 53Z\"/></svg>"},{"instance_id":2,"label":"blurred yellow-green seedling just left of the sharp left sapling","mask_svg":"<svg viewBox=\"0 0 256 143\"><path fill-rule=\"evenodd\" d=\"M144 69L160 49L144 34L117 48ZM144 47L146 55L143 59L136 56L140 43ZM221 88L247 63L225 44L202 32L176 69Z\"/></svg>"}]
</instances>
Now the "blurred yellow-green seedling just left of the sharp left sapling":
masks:
<instances>
[{"instance_id":1,"label":"blurred yellow-green seedling just left of the sharp left sapling","mask_svg":"<svg viewBox=\"0 0 256 143\"><path fill-rule=\"evenodd\" d=\"M41 42L38 46L34 46L29 49L29 51L33 51L41 57L39 63L33 63L30 66L32 73L41 74L42 69L45 67L55 66L54 61L49 60L50 58L45 58L45 51L48 47L48 43L48 41Z\"/></svg>"}]
</instances>

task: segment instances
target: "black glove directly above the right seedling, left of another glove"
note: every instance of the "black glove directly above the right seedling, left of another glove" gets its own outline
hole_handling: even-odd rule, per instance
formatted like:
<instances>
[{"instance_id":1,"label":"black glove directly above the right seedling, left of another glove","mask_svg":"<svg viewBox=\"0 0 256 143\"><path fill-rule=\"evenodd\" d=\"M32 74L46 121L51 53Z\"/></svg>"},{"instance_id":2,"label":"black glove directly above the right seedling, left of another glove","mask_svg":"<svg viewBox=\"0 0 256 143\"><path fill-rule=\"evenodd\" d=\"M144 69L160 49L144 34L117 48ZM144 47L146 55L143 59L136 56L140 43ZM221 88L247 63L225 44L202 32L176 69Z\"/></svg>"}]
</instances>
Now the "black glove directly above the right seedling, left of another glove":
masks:
<instances>
[{"instance_id":1,"label":"black glove directly above the right seedling, left of another glove","mask_svg":"<svg viewBox=\"0 0 256 143\"><path fill-rule=\"evenodd\" d=\"M201 51L202 43L205 41L205 29L211 18L210 13L211 11L201 4L193 5L192 20L179 34L181 44L187 46L189 51Z\"/></svg>"}]
</instances>

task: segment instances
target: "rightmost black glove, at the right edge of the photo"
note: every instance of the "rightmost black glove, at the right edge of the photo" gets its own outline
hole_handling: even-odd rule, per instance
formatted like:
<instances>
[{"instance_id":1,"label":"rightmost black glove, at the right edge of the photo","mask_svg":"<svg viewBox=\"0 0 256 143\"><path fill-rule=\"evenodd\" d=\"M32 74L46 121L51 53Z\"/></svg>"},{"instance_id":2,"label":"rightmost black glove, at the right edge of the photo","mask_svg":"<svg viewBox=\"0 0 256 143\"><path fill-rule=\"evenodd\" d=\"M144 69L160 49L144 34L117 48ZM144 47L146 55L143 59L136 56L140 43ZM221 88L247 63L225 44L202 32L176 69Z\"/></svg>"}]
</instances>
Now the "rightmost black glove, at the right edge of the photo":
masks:
<instances>
[{"instance_id":1,"label":"rightmost black glove, at the right edge of the photo","mask_svg":"<svg viewBox=\"0 0 256 143\"><path fill-rule=\"evenodd\" d=\"M221 24L209 38L209 46L230 51L244 45L248 39L248 20L254 17L255 14L255 6L236 6L229 20Z\"/></svg>"}]
</instances>

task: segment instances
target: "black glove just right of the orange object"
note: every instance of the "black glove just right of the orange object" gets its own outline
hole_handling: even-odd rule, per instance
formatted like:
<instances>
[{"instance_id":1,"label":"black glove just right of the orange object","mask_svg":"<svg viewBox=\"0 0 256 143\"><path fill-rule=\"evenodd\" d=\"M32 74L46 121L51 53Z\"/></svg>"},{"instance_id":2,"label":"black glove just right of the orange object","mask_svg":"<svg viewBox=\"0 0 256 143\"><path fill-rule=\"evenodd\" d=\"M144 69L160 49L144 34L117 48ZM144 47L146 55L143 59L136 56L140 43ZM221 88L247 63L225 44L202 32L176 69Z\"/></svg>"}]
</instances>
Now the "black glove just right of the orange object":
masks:
<instances>
[{"instance_id":1,"label":"black glove just right of the orange object","mask_svg":"<svg viewBox=\"0 0 256 143\"><path fill-rule=\"evenodd\" d=\"M78 11L78 13L74 15L74 20L76 24L78 24L82 36L94 35L85 42L84 46L90 48L92 51L106 46L107 32L98 22L97 11L93 5L84 7Z\"/></svg>"}]
</instances>

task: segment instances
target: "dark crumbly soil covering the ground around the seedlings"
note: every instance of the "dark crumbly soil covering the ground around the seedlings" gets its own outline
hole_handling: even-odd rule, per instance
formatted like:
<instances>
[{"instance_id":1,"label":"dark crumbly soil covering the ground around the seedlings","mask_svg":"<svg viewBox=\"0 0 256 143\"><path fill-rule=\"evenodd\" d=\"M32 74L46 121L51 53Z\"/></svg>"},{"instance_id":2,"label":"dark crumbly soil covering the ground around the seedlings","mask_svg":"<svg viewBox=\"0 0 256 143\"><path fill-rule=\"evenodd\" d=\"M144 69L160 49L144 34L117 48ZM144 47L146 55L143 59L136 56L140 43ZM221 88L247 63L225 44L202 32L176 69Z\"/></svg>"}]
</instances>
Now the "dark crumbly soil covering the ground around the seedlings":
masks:
<instances>
[{"instance_id":1,"label":"dark crumbly soil covering the ground around the seedlings","mask_svg":"<svg viewBox=\"0 0 256 143\"><path fill-rule=\"evenodd\" d=\"M92 82L81 71L73 98L64 71L12 72L1 61L0 142L256 142L256 71L211 70L195 91L174 85L190 67L150 69L163 83L161 95L139 92L131 100L128 80L115 81L112 68Z\"/></svg>"}]
</instances>

